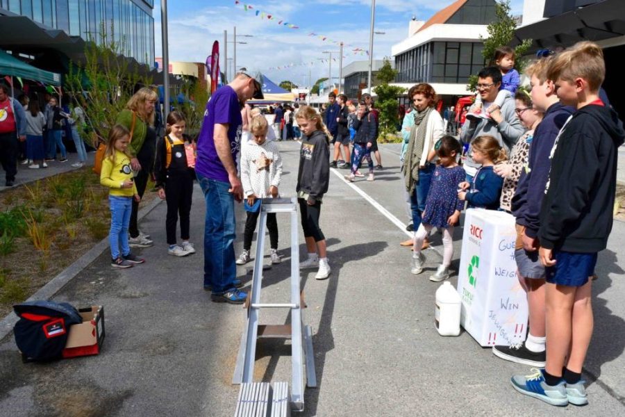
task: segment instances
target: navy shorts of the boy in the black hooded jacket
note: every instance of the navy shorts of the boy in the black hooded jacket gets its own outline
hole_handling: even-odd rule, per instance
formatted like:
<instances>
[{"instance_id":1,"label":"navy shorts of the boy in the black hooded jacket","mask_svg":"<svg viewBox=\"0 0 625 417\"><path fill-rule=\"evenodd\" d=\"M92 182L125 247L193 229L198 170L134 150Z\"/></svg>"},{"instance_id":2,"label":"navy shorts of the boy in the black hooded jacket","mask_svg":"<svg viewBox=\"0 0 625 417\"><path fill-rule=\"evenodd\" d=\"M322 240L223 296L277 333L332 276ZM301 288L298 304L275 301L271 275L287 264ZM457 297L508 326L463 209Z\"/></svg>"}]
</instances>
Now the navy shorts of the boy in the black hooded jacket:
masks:
<instances>
[{"instance_id":1,"label":"navy shorts of the boy in the black hooded jacket","mask_svg":"<svg viewBox=\"0 0 625 417\"><path fill-rule=\"evenodd\" d=\"M554 251L556 265L545 268L549 284L565 286L583 286L588 277L594 274L597 265L597 252L578 254L574 252Z\"/></svg>"}]
</instances>

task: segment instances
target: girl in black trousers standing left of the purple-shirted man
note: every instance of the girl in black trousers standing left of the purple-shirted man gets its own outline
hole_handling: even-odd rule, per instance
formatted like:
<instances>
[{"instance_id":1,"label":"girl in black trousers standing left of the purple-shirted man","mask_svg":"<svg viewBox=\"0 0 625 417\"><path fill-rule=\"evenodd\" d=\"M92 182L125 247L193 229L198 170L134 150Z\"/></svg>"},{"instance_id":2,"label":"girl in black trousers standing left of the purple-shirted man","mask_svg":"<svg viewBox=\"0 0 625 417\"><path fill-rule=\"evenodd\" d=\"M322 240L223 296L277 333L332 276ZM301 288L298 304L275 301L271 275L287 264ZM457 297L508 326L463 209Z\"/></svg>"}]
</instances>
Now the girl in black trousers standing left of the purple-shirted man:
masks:
<instances>
[{"instance_id":1,"label":"girl in black trousers standing left of the purple-shirted man","mask_svg":"<svg viewBox=\"0 0 625 417\"><path fill-rule=\"evenodd\" d=\"M189 242L189 217L193 194L193 167L195 166L194 147L185 142L185 118L182 113L172 111L167 115L165 138L156 146L156 187L158 197L167 201L167 253L174 256L194 254ZM176 223L180 215L181 245L176 240Z\"/></svg>"}]
</instances>

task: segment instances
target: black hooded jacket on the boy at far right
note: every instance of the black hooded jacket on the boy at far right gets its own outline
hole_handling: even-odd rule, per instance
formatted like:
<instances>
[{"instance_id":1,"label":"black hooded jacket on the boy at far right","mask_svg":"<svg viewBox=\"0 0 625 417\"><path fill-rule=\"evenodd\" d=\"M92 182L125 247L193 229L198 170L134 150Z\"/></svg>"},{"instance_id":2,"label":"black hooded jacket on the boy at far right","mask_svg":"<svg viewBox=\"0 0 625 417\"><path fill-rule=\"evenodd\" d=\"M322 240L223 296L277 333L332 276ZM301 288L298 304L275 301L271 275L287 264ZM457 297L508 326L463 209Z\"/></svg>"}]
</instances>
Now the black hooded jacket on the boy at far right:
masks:
<instances>
[{"instance_id":1,"label":"black hooded jacket on the boy at far right","mask_svg":"<svg viewBox=\"0 0 625 417\"><path fill-rule=\"evenodd\" d=\"M612 108L596 104L578 109L563 129L540 210L540 245L599 252L612 230L617 148L625 131Z\"/></svg>"}]
</instances>

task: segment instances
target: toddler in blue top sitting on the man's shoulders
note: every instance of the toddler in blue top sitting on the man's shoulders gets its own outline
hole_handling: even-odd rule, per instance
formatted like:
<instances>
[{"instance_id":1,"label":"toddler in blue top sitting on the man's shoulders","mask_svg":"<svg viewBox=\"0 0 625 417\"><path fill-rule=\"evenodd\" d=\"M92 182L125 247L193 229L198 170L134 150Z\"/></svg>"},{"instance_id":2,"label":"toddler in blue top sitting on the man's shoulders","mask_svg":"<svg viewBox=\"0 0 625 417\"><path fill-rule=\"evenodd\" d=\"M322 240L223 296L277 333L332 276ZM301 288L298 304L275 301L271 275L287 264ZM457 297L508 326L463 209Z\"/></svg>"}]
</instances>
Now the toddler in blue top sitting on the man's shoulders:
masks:
<instances>
[{"instance_id":1,"label":"toddler in blue top sitting on the man's shoulders","mask_svg":"<svg viewBox=\"0 0 625 417\"><path fill-rule=\"evenodd\" d=\"M521 76L515 70L515 50L510 47L499 47L494 52L494 66L501 71L501 87L497 93L494 103L490 104L485 111L482 111L482 98L479 94L475 95L475 102L472 109L467 114L469 120L479 118L490 119L490 113L497 108L503 106L506 97L514 97L521 83Z\"/></svg>"}]
</instances>

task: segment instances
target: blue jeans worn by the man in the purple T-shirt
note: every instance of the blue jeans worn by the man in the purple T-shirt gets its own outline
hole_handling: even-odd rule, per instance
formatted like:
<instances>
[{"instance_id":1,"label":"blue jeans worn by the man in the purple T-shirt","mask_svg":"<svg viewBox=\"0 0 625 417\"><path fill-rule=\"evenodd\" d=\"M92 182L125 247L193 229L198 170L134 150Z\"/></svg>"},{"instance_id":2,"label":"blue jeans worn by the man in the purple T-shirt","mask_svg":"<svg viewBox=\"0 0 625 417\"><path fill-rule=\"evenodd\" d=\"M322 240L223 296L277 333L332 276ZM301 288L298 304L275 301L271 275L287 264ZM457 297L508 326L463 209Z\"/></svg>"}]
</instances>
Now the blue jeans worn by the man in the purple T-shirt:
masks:
<instances>
[{"instance_id":1,"label":"blue jeans worn by the man in the purple T-shirt","mask_svg":"<svg viewBox=\"0 0 625 417\"><path fill-rule=\"evenodd\" d=\"M208 179L197 174L206 200L204 223L204 286L213 286L213 294L235 288L235 212L234 196L228 193L230 183Z\"/></svg>"}]
</instances>

